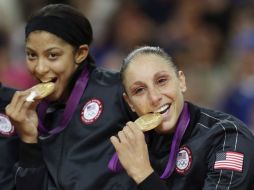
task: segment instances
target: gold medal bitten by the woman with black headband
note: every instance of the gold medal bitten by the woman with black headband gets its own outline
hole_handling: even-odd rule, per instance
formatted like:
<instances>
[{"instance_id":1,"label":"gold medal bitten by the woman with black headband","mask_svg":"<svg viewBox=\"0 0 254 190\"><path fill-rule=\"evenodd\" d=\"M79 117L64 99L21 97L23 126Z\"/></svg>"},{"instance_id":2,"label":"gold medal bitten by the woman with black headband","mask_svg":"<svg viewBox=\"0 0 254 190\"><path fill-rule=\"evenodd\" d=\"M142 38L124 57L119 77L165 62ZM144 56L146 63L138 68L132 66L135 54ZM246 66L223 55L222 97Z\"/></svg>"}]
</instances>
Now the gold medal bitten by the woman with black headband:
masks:
<instances>
[{"instance_id":1,"label":"gold medal bitten by the woman with black headband","mask_svg":"<svg viewBox=\"0 0 254 190\"><path fill-rule=\"evenodd\" d=\"M43 99L46 96L50 95L55 90L55 83L39 83L29 89L30 94L26 98L26 101L31 102L34 99Z\"/></svg>"}]
</instances>

